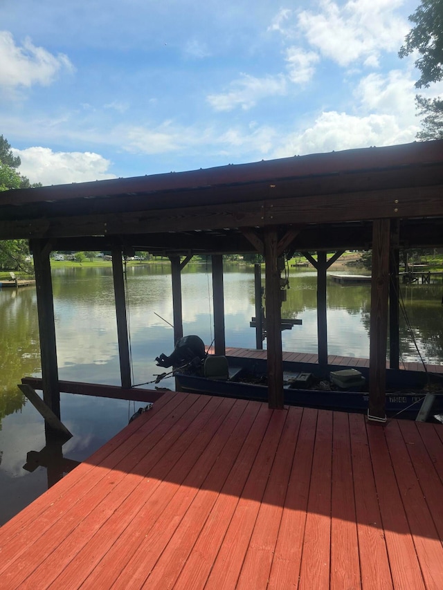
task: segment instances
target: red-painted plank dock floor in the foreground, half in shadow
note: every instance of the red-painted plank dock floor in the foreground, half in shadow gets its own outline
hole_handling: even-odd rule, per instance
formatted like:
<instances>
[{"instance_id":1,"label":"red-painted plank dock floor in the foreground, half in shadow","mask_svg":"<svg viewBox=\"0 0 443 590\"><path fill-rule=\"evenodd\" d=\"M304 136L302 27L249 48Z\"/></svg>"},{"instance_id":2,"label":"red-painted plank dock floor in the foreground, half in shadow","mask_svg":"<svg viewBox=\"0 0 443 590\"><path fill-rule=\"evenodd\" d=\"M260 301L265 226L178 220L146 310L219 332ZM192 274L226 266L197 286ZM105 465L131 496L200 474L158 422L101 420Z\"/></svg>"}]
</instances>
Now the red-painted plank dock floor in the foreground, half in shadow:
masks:
<instances>
[{"instance_id":1,"label":"red-painted plank dock floor in the foreground, half in shadow","mask_svg":"<svg viewBox=\"0 0 443 590\"><path fill-rule=\"evenodd\" d=\"M166 393L0 528L12 589L440 589L443 426Z\"/></svg>"}]
</instances>

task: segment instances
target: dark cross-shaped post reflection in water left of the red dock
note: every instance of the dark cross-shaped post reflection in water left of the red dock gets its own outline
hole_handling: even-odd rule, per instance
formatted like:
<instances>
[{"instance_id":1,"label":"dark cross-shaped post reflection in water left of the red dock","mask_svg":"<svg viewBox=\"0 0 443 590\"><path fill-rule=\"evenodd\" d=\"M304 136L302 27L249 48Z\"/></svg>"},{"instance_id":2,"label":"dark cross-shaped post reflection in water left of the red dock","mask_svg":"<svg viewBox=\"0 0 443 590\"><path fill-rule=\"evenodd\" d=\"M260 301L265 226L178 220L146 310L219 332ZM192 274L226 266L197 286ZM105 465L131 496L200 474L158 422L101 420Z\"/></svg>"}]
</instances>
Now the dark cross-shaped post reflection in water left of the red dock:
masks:
<instances>
[{"instance_id":1,"label":"dark cross-shaped post reflection in water left of the red dock","mask_svg":"<svg viewBox=\"0 0 443 590\"><path fill-rule=\"evenodd\" d=\"M23 468L32 473L38 467L44 467L48 474L48 488L51 488L57 481L60 481L64 474L69 473L79 461L63 457L62 446L66 443L66 437L62 438L51 434L48 428L45 428L46 445L41 451L29 451L26 455L26 463Z\"/></svg>"}]
</instances>

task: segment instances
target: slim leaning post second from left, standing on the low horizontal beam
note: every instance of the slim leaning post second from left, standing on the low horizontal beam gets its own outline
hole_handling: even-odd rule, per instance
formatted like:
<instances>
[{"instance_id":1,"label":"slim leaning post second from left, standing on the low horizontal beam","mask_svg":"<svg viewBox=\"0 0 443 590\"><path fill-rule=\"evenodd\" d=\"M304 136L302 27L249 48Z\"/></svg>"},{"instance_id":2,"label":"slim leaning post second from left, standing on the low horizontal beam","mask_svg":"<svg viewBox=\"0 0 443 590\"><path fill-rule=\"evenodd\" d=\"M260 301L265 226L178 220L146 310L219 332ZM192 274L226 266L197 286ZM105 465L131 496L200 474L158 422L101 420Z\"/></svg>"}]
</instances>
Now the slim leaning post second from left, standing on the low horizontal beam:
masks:
<instances>
[{"instance_id":1,"label":"slim leaning post second from left, standing on the low horizontal beam","mask_svg":"<svg viewBox=\"0 0 443 590\"><path fill-rule=\"evenodd\" d=\"M114 246L112 252L112 275L116 299L118 356L120 358L120 379L122 387L131 387L131 361L129 358L129 339L125 300L125 278L123 276L122 250Z\"/></svg>"}]
</instances>

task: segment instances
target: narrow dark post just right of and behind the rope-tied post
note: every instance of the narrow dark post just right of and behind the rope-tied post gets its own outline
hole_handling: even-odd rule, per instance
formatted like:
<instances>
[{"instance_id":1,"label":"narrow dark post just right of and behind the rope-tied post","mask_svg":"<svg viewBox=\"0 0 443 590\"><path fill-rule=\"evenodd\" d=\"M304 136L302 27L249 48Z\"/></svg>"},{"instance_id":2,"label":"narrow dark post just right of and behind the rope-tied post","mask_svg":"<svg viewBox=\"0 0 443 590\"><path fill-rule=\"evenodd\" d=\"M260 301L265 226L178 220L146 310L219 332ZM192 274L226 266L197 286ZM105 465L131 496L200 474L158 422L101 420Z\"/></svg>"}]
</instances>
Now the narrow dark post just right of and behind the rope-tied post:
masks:
<instances>
[{"instance_id":1,"label":"narrow dark post just right of and behind the rope-tied post","mask_svg":"<svg viewBox=\"0 0 443 590\"><path fill-rule=\"evenodd\" d=\"M391 247L389 257L389 366L399 368L399 222L391 221Z\"/></svg>"}]
</instances>

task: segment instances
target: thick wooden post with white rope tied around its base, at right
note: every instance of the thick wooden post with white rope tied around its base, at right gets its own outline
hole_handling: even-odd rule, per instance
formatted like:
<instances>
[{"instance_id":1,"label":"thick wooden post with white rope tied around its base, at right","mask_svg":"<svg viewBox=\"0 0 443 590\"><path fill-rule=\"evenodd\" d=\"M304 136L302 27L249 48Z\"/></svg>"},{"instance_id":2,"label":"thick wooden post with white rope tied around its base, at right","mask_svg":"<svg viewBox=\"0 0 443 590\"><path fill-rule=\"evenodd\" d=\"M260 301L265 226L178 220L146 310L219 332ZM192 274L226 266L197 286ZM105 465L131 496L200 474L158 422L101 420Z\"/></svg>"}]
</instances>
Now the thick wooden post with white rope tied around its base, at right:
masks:
<instances>
[{"instance_id":1,"label":"thick wooden post with white rope tied around its base, at right","mask_svg":"<svg viewBox=\"0 0 443 590\"><path fill-rule=\"evenodd\" d=\"M386 421L386 340L388 337L390 220L372 223L372 282L368 418Z\"/></svg>"}]
</instances>

